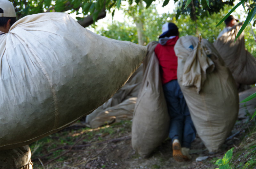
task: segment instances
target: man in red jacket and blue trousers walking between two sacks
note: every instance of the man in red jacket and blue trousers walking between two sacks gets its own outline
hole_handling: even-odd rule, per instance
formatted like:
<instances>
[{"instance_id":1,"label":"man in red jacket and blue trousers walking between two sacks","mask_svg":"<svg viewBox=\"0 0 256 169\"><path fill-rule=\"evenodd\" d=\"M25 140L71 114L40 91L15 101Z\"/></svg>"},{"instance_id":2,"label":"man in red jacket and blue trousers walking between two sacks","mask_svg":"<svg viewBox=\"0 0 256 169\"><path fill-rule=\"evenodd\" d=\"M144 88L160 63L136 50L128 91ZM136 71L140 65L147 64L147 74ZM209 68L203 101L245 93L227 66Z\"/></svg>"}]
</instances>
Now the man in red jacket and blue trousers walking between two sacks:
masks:
<instances>
[{"instance_id":1,"label":"man in red jacket and blue trousers walking between two sacks","mask_svg":"<svg viewBox=\"0 0 256 169\"><path fill-rule=\"evenodd\" d=\"M174 45L179 39L178 27L173 23L166 23L162 31L155 53L160 65L164 96L170 115L169 137L172 139L173 158L176 161L184 161L191 159L189 149L195 139L196 129L177 81L178 58L174 52Z\"/></svg>"}]
</instances>

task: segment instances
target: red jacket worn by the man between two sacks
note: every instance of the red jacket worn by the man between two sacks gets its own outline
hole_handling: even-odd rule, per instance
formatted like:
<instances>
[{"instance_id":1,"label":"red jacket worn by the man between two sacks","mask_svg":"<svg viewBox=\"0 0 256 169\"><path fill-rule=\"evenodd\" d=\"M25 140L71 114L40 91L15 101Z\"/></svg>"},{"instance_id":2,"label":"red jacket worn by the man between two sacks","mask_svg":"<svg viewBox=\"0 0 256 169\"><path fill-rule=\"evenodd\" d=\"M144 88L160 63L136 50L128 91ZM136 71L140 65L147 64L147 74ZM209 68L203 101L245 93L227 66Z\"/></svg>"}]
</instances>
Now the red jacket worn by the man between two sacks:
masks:
<instances>
[{"instance_id":1,"label":"red jacket worn by the man between two sacks","mask_svg":"<svg viewBox=\"0 0 256 169\"><path fill-rule=\"evenodd\" d=\"M163 85L177 79L178 58L174 52L174 45L178 39L179 36L176 36L168 40L165 45L157 44L155 48Z\"/></svg>"}]
</instances>

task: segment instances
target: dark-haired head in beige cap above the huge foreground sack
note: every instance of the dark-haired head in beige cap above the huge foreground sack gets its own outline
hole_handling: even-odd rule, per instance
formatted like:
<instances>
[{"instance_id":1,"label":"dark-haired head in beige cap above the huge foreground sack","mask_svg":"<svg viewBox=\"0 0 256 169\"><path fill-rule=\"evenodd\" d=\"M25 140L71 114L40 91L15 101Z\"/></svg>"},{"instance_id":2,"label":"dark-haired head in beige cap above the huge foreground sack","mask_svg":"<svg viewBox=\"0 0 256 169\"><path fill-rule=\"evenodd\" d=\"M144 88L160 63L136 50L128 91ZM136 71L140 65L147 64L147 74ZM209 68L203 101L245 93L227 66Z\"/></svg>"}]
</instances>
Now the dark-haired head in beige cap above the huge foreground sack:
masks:
<instances>
[{"instance_id":1,"label":"dark-haired head in beige cap above the huge foreground sack","mask_svg":"<svg viewBox=\"0 0 256 169\"><path fill-rule=\"evenodd\" d=\"M0 0L0 35L8 33L16 21L16 12L12 3L8 0Z\"/></svg>"}]
</instances>

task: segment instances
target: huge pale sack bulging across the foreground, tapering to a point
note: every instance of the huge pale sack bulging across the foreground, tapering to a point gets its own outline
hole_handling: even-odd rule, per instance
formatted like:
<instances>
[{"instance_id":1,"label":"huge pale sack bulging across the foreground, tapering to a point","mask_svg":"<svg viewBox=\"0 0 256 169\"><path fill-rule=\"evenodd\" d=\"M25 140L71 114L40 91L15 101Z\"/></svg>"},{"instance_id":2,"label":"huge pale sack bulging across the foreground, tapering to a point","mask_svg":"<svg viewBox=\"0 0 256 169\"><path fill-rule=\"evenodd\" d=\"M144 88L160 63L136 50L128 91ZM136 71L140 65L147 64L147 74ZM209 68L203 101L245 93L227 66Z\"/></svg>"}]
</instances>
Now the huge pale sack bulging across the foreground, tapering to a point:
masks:
<instances>
[{"instance_id":1,"label":"huge pale sack bulging across the foreground, tapering to a point","mask_svg":"<svg viewBox=\"0 0 256 169\"><path fill-rule=\"evenodd\" d=\"M21 18L0 41L0 149L32 143L91 113L147 51L55 12Z\"/></svg>"}]
</instances>

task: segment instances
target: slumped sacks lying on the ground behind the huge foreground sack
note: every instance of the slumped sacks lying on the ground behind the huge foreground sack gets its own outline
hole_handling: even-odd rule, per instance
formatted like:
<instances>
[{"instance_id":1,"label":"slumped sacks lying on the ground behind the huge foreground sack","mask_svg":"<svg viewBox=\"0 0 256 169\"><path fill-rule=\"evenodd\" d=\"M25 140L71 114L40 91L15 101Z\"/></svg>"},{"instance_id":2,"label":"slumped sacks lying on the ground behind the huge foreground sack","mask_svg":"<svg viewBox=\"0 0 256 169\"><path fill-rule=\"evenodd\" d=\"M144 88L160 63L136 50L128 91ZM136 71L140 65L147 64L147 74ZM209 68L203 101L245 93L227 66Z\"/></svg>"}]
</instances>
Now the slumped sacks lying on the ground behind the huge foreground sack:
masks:
<instances>
[{"instance_id":1,"label":"slumped sacks lying on the ground behind the huge foreground sack","mask_svg":"<svg viewBox=\"0 0 256 169\"><path fill-rule=\"evenodd\" d=\"M143 64L112 98L86 116L86 126L97 128L105 124L132 120L134 106L142 82Z\"/></svg>"}]
</instances>

